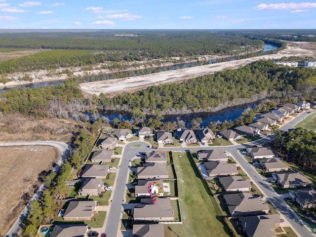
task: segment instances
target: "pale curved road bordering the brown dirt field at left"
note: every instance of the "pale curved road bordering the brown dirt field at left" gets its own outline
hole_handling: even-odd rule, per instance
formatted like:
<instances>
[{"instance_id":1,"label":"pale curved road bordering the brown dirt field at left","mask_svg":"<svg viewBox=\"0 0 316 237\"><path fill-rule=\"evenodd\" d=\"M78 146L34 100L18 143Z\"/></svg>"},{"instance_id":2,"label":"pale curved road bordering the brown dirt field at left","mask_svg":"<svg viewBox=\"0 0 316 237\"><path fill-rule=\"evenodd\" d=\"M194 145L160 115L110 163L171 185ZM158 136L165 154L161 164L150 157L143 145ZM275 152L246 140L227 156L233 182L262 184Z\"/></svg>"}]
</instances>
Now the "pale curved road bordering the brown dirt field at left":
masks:
<instances>
[{"instance_id":1,"label":"pale curved road bordering the brown dirt field at left","mask_svg":"<svg viewBox=\"0 0 316 237\"><path fill-rule=\"evenodd\" d=\"M56 147L57 149L60 150L61 156L56 163L55 167L51 172L57 172L60 169L61 163L69 156L69 147L66 143L63 142L53 142L53 141L43 141L43 142L9 142L9 143L0 143L1 147L7 147L7 146L52 146ZM30 203L33 200L40 199L41 194L44 190L45 186L42 184L40 188L36 191L34 196L31 198L31 200L28 202L28 204L24 207L22 212L20 213L19 217L16 219L14 224L11 226L9 231L6 233L5 237L17 237L17 233L22 229L22 221L27 217L28 212L29 212L29 206Z\"/></svg>"}]
</instances>

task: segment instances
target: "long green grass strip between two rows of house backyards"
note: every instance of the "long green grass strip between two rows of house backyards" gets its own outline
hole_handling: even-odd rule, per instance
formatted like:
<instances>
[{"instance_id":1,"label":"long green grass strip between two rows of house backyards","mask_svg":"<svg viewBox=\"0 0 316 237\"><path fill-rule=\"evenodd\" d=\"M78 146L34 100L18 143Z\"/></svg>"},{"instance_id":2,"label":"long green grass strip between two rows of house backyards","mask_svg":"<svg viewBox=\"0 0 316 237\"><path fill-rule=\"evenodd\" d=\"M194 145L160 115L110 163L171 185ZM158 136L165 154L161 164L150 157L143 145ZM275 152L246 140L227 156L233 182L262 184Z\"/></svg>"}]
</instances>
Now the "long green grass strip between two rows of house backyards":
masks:
<instances>
[{"instance_id":1,"label":"long green grass strip between two rows of house backyards","mask_svg":"<svg viewBox=\"0 0 316 237\"><path fill-rule=\"evenodd\" d=\"M172 157L178 178L183 224L165 225L165 236L175 237L180 233L182 236L200 237L211 230L212 236L229 237L230 230L224 225L215 199L200 178L194 161L189 158L190 154L172 153Z\"/></svg>"}]
</instances>

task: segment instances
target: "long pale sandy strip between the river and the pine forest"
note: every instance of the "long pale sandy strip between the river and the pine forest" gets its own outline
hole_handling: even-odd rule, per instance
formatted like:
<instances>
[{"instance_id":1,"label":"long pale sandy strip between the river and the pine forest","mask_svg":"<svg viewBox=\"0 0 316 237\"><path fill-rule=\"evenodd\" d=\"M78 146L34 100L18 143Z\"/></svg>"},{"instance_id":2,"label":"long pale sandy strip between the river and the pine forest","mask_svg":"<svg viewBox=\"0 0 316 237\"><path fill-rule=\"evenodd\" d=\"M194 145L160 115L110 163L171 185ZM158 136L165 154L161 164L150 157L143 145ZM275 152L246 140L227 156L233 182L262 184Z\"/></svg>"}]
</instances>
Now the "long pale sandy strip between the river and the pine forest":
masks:
<instances>
[{"instance_id":1,"label":"long pale sandy strip between the river and the pine forest","mask_svg":"<svg viewBox=\"0 0 316 237\"><path fill-rule=\"evenodd\" d=\"M158 85L160 83L170 83L184 79L196 78L226 69L237 69L259 59L276 59L289 56L316 57L316 43L289 42L286 49L281 50L276 54L161 72L139 77L87 82L80 84L80 88L83 92L88 94L99 95L100 93L104 93L107 96L115 96L122 92L133 92L144 87Z\"/></svg>"}]
</instances>

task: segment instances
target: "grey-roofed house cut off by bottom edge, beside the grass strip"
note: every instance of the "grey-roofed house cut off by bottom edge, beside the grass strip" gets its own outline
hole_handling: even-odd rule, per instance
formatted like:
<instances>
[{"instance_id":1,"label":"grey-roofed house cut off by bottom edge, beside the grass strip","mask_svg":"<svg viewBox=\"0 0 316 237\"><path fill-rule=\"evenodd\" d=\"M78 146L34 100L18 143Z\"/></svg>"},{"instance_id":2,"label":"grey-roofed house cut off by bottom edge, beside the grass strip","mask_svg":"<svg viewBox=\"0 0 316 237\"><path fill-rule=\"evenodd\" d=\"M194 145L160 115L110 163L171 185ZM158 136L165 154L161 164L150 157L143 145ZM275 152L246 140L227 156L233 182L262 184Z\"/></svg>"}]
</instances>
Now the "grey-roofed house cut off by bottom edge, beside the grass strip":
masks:
<instances>
[{"instance_id":1,"label":"grey-roofed house cut off by bottom edge, beside the grass strip","mask_svg":"<svg viewBox=\"0 0 316 237\"><path fill-rule=\"evenodd\" d=\"M164 227L159 224L134 224L133 237L164 237Z\"/></svg>"}]
</instances>

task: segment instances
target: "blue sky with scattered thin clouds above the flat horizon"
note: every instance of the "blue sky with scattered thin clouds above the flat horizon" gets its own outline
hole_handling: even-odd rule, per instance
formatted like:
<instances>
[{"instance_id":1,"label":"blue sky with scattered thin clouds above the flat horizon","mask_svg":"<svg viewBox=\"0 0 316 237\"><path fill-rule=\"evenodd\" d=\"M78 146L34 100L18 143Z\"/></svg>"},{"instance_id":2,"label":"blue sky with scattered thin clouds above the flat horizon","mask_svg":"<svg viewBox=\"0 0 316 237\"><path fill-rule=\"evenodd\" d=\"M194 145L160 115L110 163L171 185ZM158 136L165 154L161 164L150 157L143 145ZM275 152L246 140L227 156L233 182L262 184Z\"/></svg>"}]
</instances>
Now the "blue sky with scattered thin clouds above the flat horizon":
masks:
<instances>
[{"instance_id":1,"label":"blue sky with scattered thin clouds above the flat horizon","mask_svg":"<svg viewBox=\"0 0 316 237\"><path fill-rule=\"evenodd\" d=\"M315 29L304 0L0 0L0 29Z\"/></svg>"}]
</instances>

